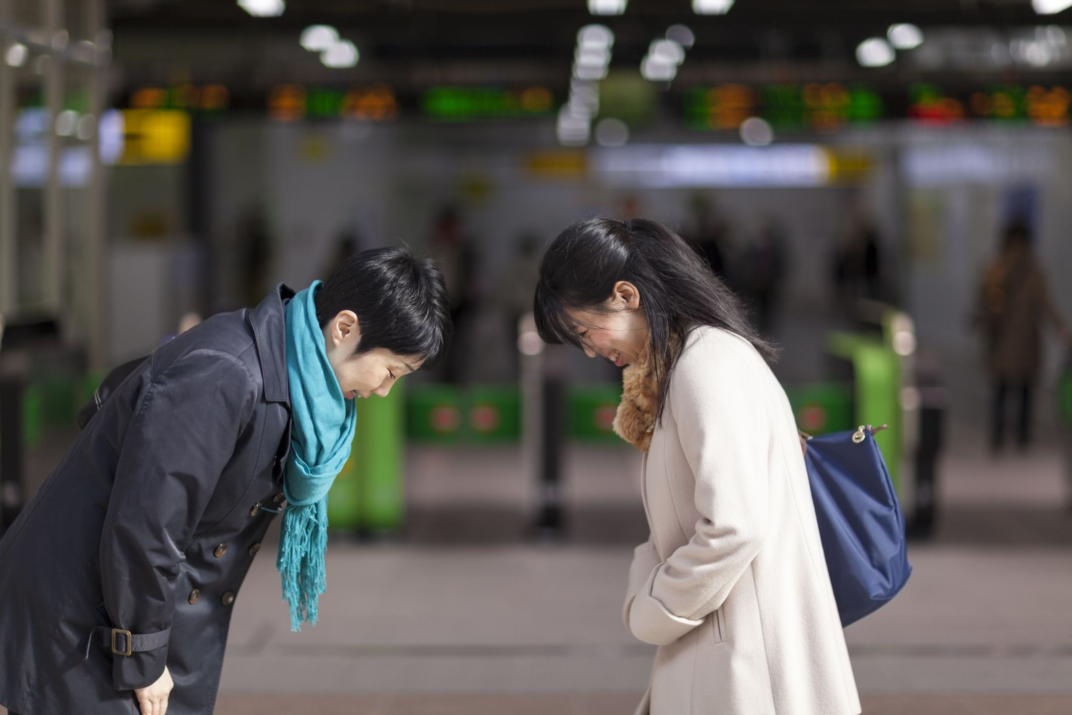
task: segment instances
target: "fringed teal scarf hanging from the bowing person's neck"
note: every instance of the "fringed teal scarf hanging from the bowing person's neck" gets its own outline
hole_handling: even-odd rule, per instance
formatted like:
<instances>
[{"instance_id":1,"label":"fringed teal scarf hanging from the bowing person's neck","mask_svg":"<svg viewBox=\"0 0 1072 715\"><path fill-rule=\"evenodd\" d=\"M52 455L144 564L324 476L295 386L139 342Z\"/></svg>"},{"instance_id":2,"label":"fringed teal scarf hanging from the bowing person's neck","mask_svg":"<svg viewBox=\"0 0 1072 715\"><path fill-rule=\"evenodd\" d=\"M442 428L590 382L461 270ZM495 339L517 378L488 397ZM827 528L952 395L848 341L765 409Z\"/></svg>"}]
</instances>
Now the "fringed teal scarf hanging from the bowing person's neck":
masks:
<instances>
[{"instance_id":1,"label":"fringed teal scarf hanging from the bowing person's neck","mask_svg":"<svg viewBox=\"0 0 1072 715\"><path fill-rule=\"evenodd\" d=\"M357 413L343 397L328 362L316 321L313 281L286 306L286 374L291 385L291 457L283 491L283 533L276 567L283 600L291 605L291 629L316 624L316 605L327 590L324 552L328 546L328 490L349 457Z\"/></svg>"}]
</instances>

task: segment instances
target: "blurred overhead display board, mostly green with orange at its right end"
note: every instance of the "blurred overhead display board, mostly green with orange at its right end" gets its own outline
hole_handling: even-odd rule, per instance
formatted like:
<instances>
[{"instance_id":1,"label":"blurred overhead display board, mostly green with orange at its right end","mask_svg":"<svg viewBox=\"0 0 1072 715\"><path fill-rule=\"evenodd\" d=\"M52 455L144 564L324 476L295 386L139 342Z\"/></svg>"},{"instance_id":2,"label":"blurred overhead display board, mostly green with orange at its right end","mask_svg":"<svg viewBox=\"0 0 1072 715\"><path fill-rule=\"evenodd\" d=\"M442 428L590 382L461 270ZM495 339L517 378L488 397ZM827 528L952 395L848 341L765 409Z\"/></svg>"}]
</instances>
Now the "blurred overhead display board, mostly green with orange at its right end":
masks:
<instances>
[{"instance_id":1,"label":"blurred overhead display board, mostly green with orange at its right end","mask_svg":"<svg viewBox=\"0 0 1072 715\"><path fill-rule=\"evenodd\" d=\"M550 115L554 95L545 87L433 87L425 92L421 108L436 121L523 119Z\"/></svg>"}]
</instances>

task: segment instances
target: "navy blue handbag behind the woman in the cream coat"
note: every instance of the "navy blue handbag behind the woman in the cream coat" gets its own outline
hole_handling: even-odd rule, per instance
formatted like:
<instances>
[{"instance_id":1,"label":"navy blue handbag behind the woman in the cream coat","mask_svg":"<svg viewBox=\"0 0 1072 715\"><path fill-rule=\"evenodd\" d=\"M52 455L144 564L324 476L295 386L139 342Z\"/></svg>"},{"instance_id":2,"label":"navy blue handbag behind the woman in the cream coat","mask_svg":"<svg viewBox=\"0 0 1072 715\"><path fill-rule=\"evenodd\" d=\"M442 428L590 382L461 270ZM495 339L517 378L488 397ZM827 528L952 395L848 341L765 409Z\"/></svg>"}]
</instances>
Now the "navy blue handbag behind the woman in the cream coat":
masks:
<instances>
[{"instance_id":1,"label":"navy blue handbag behind the woman in the cream coat","mask_svg":"<svg viewBox=\"0 0 1072 715\"><path fill-rule=\"evenodd\" d=\"M896 596L912 572L905 516L875 432L810 437L804 456L843 626Z\"/></svg>"}]
</instances>

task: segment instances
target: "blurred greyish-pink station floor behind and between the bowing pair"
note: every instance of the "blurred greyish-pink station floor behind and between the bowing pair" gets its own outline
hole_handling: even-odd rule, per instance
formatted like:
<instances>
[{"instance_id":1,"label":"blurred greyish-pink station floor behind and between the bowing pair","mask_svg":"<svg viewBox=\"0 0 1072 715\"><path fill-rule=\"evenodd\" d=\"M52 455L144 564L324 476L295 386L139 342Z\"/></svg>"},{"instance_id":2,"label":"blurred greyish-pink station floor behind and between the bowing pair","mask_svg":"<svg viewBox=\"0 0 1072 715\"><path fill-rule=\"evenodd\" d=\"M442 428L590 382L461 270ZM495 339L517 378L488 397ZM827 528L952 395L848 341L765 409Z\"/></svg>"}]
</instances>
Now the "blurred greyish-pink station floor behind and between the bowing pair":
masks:
<instances>
[{"instance_id":1,"label":"blurred greyish-pink station floor behind and between the bowing pair","mask_svg":"<svg viewBox=\"0 0 1072 715\"><path fill-rule=\"evenodd\" d=\"M866 715L1072 713L1072 511L1056 435L1000 458L973 435L954 429L939 527L913 545L908 586L846 631ZM619 615L646 537L639 461L571 449L553 540L527 530L519 460L411 449L405 533L334 535L322 622L301 632L265 549L239 594L215 712L629 715L653 655Z\"/></svg>"}]
</instances>

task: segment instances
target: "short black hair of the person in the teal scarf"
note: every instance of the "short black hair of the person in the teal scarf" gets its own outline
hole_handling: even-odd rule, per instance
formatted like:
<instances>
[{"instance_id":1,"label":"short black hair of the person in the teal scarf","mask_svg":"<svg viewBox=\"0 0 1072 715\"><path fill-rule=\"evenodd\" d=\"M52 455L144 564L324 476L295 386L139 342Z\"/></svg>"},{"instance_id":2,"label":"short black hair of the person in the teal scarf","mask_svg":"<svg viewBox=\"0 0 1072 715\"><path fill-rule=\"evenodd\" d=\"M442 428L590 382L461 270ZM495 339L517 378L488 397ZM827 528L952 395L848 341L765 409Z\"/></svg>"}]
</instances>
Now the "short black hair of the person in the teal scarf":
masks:
<instances>
[{"instance_id":1,"label":"short black hair of the person in the teal scarf","mask_svg":"<svg viewBox=\"0 0 1072 715\"><path fill-rule=\"evenodd\" d=\"M377 347L435 364L450 342L447 287L435 262L408 249L383 248L346 258L316 293L323 328L354 311L361 330L355 355Z\"/></svg>"}]
</instances>

